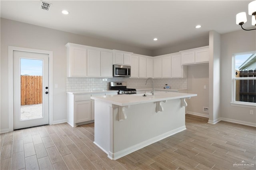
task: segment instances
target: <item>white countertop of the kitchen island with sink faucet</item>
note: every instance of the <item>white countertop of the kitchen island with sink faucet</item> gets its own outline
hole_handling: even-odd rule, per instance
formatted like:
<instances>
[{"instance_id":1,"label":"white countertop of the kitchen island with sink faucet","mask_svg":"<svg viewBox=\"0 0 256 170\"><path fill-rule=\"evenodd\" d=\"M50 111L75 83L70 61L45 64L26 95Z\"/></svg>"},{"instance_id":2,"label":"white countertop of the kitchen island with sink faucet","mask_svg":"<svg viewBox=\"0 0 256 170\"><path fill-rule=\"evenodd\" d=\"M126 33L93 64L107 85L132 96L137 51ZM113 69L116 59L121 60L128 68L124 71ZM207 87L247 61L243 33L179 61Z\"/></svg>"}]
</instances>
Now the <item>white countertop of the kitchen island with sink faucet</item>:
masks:
<instances>
[{"instance_id":1,"label":"white countertop of the kitchen island with sink faucet","mask_svg":"<svg viewBox=\"0 0 256 170\"><path fill-rule=\"evenodd\" d=\"M91 99L103 101L103 102L118 105L118 106L129 106L129 105L137 105L141 103L190 98L194 96L197 96L197 94L156 92L155 95L151 95L147 93L146 96L143 96L143 94L109 95L109 96L95 96L95 97L91 97Z\"/></svg>"}]
</instances>

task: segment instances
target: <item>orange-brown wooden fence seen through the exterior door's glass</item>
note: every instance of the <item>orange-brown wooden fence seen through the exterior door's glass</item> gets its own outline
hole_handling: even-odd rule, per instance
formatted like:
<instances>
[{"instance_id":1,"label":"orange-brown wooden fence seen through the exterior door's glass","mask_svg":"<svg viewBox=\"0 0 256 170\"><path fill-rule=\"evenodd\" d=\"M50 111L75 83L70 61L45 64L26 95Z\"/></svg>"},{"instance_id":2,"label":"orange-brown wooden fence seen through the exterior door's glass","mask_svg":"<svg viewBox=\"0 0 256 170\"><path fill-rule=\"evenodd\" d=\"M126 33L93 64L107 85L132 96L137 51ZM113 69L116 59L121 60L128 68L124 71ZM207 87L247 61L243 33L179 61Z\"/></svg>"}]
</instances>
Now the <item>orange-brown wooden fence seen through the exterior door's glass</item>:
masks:
<instances>
[{"instance_id":1,"label":"orange-brown wooden fence seen through the exterior door's glass","mask_svg":"<svg viewBox=\"0 0 256 170\"><path fill-rule=\"evenodd\" d=\"M42 103L42 76L21 75L21 105Z\"/></svg>"}]
</instances>

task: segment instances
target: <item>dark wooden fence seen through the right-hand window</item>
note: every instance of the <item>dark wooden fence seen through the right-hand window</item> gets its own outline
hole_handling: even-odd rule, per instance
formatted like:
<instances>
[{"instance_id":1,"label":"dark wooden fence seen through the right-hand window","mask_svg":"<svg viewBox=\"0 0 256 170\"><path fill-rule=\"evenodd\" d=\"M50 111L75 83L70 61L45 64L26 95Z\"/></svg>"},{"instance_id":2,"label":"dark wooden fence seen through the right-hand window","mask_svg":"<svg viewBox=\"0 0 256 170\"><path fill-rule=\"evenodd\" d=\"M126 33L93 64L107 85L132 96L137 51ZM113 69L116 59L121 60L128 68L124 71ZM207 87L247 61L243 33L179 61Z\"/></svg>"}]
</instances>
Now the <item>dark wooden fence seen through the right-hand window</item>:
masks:
<instances>
[{"instance_id":1,"label":"dark wooden fence seen through the right-hand window","mask_svg":"<svg viewBox=\"0 0 256 170\"><path fill-rule=\"evenodd\" d=\"M236 77L256 77L256 70L236 72ZM236 101L256 103L256 80L236 81Z\"/></svg>"}]
</instances>

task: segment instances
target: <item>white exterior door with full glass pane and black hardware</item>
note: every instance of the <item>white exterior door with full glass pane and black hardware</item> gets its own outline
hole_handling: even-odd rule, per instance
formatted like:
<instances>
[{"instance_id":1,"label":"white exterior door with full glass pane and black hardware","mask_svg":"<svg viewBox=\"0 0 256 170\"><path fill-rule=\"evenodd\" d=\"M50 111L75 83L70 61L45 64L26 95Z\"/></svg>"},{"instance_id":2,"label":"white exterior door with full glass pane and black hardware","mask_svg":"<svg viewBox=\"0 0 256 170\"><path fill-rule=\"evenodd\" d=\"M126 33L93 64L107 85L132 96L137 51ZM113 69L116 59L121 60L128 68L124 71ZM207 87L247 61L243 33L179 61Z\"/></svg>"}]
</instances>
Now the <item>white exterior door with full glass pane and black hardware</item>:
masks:
<instances>
[{"instance_id":1,"label":"white exterior door with full glass pane and black hardware","mask_svg":"<svg viewBox=\"0 0 256 170\"><path fill-rule=\"evenodd\" d=\"M13 52L14 129L49 124L49 56Z\"/></svg>"}]
</instances>

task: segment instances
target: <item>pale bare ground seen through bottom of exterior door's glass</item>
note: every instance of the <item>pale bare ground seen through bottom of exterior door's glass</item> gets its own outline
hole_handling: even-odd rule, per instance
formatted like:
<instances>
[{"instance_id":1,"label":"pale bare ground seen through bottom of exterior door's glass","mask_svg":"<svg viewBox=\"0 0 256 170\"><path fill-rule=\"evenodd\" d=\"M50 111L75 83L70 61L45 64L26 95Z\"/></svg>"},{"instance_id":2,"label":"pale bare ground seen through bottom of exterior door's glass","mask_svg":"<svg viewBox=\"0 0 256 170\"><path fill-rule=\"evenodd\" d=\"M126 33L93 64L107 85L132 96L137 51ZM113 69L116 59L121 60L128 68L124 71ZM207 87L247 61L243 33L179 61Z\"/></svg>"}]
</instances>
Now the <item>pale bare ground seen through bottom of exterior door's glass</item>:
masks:
<instances>
[{"instance_id":1,"label":"pale bare ground seen through bottom of exterior door's glass","mask_svg":"<svg viewBox=\"0 0 256 170\"><path fill-rule=\"evenodd\" d=\"M36 119L42 117L42 104L23 105L20 107L21 120Z\"/></svg>"}]
</instances>

